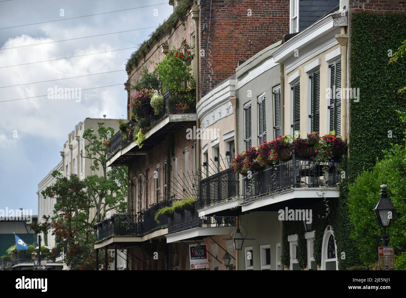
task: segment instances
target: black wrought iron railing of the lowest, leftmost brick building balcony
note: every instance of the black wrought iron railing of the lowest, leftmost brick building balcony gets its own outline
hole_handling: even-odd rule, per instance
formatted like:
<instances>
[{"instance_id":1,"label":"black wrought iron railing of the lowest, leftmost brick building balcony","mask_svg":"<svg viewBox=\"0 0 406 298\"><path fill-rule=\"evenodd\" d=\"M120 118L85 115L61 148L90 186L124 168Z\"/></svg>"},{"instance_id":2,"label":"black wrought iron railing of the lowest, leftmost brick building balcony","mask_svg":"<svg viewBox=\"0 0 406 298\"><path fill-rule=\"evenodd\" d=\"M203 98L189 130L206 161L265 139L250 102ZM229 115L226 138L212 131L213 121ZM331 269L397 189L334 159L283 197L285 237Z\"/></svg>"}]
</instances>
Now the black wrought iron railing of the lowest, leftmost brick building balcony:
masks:
<instances>
[{"instance_id":1,"label":"black wrought iron railing of the lowest, leftmost brick building balcony","mask_svg":"<svg viewBox=\"0 0 406 298\"><path fill-rule=\"evenodd\" d=\"M136 215L114 214L109 219L97 223L97 241L110 236L136 236L142 234Z\"/></svg>"}]
</instances>

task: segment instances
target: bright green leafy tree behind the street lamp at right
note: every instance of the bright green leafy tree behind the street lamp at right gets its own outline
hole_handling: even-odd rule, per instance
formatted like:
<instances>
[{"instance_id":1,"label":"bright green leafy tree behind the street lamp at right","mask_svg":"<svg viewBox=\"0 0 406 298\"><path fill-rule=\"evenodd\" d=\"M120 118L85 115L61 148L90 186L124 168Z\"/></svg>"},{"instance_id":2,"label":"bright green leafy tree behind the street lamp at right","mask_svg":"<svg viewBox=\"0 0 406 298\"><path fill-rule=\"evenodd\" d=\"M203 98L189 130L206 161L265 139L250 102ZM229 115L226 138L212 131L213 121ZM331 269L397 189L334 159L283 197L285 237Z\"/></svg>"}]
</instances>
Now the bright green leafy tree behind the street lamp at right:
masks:
<instances>
[{"instance_id":1,"label":"bright green leafy tree behind the street lamp at right","mask_svg":"<svg viewBox=\"0 0 406 298\"><path fill-rule=\"evenodd\" d=\"M406 113L398 111L406 123ZM405 139L406 143L406 132ZM351 238L361 251L365 265L377 260L380 230L372 208L380 199L380 185L387 184L388 195L396 208L389 235L389 245L395 254L406 251L406 146L395 144L384 150L384 158L377 161L371 172L363 171L349 187L348 208L354 225Z\"/></svg>"}]
</instances>

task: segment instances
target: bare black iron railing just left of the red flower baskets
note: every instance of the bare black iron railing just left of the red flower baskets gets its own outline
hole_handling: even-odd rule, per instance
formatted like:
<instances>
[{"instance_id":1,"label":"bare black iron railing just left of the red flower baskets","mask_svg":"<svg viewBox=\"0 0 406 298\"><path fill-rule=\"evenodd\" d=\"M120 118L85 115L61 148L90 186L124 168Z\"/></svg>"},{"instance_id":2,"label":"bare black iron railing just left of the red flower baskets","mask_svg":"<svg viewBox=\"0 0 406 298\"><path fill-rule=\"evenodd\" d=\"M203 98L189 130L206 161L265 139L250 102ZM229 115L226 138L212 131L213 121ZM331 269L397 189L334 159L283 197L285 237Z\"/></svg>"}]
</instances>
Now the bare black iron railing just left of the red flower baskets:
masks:
<instances>
[{"instance_id":1,"label":"bare black iron railing just left of the red flower baskets","mask_svg":"<svg viewBox=\"0 0 406 298\"><path fill-rule=\"evenodd\" d=\"M225 201L239 195L238 173L232 167L200 180L200 206Z\"/></svg>"}]
</instances>

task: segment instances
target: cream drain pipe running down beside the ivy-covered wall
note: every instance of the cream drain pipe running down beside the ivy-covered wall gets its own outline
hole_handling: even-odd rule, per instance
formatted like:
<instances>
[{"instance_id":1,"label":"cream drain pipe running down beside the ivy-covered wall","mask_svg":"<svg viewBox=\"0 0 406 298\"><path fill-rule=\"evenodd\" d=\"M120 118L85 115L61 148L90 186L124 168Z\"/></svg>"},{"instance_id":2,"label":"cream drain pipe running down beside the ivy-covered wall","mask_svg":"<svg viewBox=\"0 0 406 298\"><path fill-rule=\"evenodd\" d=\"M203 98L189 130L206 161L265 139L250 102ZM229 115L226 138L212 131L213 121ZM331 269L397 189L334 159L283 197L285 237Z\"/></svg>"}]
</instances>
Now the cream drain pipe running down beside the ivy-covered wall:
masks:
<instances>
[{"instance_id":1,"label":"cream drain pipe running down beside the ivy-covered wall","mask_svg":"<svg viewBox=\"0 0 406 298\"><path fill-rule=\"evenodd\" d=\"M335 39L341 46L341 136L348 140L348 117L347 117L347 105L349 106L349 99L347 98L347 92L343 92L343 88L347 88L347 45L348 34L346 34L346 27L341 27L341 34L336 34ZM344 85L343 85L344 84ZM346 89L344 89L346 90ZM342 100L345 99L345 100Z\"/></svg>"}]
</instances>

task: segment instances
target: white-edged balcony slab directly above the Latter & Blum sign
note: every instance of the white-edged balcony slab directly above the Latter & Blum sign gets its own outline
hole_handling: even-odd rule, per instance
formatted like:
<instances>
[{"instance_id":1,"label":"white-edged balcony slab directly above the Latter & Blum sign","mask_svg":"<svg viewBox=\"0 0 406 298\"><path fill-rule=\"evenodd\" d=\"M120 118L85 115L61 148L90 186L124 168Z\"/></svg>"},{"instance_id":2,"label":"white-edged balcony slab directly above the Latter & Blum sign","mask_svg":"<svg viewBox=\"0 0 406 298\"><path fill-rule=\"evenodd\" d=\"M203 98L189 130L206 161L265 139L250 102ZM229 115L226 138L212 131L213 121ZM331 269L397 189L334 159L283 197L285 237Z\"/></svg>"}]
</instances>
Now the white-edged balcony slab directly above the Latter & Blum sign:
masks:
<instances>
[{"instance_id":1,"label":"white-edged balcony slab directly above the Latter & Blum sign","mask_svg":"<svg viewBox=\"0 0 406 298\"><path fill-rule=\"evenodd\" d=\"M172 243L183 240L201 240L202 237L229 235L232 227L195 227L193 229L166 235L166 242Z\"/></svg>"}]
</instances>

